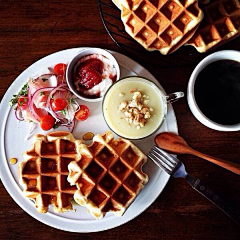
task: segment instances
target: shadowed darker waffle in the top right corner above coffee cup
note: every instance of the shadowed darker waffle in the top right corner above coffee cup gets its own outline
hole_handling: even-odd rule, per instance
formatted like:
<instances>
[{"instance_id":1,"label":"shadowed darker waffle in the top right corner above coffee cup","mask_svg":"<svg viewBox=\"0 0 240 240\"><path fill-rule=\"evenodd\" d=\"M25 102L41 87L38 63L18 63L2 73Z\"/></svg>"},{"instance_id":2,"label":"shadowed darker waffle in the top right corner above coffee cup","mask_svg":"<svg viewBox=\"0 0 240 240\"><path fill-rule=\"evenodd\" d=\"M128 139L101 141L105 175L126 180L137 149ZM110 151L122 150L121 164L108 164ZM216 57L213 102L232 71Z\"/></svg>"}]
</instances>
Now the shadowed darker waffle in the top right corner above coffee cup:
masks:
<instances>
[{"instance_id":1,"label":"shadowed darker waffle in the top right corner above coffee cup","mask_svg":"<svg viewBox=\"0 0 240 240\"><path fill-rule=\"evenodd\" d=\"M187 43L198 52L206 52L240 35L239 0L211 0L202 9L204 19Z\"/></svg>"}]
</instances>

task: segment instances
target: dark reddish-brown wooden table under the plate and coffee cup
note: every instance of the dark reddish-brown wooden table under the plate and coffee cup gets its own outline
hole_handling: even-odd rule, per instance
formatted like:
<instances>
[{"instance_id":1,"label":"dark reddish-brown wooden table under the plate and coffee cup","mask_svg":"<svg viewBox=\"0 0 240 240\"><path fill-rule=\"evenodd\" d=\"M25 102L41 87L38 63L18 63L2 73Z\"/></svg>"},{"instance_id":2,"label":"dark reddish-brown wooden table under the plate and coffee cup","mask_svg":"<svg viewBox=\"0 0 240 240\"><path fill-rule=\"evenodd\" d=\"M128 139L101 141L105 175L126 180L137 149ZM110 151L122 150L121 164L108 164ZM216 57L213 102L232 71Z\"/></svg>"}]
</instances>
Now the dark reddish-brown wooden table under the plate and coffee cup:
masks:
<instances>
[{"instance_id":1,"label":"dark reddish-brown wooden table under the plate and coffee cup","mask_svg":"<svg viewBox=\"0 0 240 240\"><path fill-rule=\"evenodd\" d=\"M90 3L91 2L91 3ZM40 58L74 47L121 52L103 27L97 1L0 1L0 99L14 79ZM240 50L240 38L213 50ZM186 93L191 72L207 54L182 47L169 56L134 56L166 92ZM240 163L240 132L218 132L199 123L186 98L174 104L179 134L199 151ZM16 138L17 138L16 134ZM239 176L193 156L179 157L188 172L240 209ZM78 234L60 231L24 212L0 182L0 239L239 239L240 228L182 179L171 179L140 216L115 229Z\"/></svg>"}]
</instances>

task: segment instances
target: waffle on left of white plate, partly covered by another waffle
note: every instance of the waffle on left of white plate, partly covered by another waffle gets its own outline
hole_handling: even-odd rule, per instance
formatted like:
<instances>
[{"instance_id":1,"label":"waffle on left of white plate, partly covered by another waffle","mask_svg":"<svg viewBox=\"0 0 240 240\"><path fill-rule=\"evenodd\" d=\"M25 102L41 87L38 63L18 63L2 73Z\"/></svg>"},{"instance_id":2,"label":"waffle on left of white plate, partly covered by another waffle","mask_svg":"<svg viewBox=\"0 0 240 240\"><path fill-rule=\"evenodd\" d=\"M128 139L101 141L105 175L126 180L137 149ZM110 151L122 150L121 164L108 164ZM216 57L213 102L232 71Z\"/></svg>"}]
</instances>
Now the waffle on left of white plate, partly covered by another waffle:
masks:
<instances>
[{"instance_id":1,"label":"waffle on left of white plate, partly covered by another waffle","mask_svg":"<svg viewBox=\"0 0 240 240\"><path fill-rule=\"evenodd\" d=\"M56 212L72 209L70 200L76 191L67 181L68 164L78 159L78 145L69 132L52 132L46 136L37 134L32 149L23 154L19 165L23 194L33 199L40 213L53 204Z\"/></svg>"}]
</instances>

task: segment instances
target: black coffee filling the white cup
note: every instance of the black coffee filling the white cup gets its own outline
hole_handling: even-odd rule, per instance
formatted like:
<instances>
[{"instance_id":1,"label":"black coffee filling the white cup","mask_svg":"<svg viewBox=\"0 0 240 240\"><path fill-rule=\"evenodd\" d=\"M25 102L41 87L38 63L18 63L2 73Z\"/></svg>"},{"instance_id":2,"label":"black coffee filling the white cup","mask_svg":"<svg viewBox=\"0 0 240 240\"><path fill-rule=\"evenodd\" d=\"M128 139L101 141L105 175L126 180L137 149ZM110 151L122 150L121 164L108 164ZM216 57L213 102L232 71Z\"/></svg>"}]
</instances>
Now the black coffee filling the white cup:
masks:
<instances>
[{"instance_id":1,"label":"black coffee filling the white cup","mask_svg":"<svg viewBox=\"0 0 240 240\"><path fill-rule=\"evenodd\" d=\"M194 94L207 118L224 125L240 123L240 62L209 64L197 76Z\"/></svg>"}]
</instances>

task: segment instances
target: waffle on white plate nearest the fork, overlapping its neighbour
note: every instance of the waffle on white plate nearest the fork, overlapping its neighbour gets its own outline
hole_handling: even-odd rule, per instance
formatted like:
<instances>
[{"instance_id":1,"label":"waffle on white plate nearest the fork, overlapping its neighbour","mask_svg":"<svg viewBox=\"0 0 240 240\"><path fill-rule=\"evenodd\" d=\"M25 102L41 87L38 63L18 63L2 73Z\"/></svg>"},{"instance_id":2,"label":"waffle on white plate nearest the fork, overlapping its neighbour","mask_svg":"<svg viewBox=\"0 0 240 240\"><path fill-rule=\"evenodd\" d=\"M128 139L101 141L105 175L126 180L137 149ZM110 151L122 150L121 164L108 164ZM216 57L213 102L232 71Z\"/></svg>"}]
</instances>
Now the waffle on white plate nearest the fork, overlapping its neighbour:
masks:
<instances>
[{"instance_id":1,"label":"waffle on white plate nearest the fork, overlapping its neighbour","mask_svg":"<svg viewBox=\"0 0 240 240\"><path fill-rule=\"evenodd\" d=\"M112 211L121 216L148 181L142 172L147 157L130 141L111 132L79 146L81 158L68 165L68 181L77 186L74 200L97 219Z\"/></svg>"}]
</instances>

